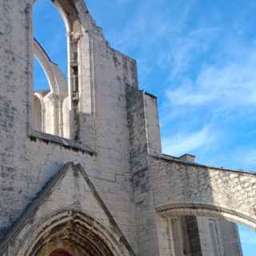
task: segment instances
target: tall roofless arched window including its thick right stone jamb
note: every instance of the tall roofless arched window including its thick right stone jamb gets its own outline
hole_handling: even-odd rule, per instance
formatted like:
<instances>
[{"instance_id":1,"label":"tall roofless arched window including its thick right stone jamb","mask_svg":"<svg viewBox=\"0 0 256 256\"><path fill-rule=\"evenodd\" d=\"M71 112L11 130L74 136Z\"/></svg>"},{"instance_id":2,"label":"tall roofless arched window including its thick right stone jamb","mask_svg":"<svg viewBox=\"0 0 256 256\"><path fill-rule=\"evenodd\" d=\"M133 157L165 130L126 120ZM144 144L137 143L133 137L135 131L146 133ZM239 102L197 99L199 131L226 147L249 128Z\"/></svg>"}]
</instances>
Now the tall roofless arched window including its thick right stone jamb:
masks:
<instances>
[{"instance_id":1,"label":"tall roofless arched window including its thick right stone jamb","mask_svg":"<svg viewBox=\"0 0 256 256\"><path fill-rule=\"evenodd\" d=\"M93 20L82 1L79 4L76 0L31 1L36 38L34 57L41 64L50 87L42 101L45 108L42 131L81 140L85 134L91 134L88 127L94 127L93 119L88 118L94 114L92 42L88 33ZM31 126L38 130L33 123Z\"/></svg>"}]
</instances>

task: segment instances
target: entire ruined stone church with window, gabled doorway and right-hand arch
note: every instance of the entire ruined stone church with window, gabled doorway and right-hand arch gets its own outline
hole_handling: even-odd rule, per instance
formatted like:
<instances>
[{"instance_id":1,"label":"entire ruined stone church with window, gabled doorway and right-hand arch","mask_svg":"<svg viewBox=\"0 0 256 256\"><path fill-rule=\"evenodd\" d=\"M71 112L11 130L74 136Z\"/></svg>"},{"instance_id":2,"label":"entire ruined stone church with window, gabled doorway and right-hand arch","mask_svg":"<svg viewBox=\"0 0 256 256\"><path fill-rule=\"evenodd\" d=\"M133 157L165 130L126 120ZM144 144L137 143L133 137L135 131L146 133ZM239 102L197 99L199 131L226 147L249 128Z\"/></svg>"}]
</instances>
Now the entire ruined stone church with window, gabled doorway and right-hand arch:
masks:
<instances>
[{"instance_id":1,"label":"entire ruined stone church with window, gabled doorway and right-hand arch","mask_svg":"<svg viewBox=\"0 0 256 256\"><path fill-rule=\"evenodd\" d=\"M53 2L67 78L33 36L34 1L0 0L0 255L241 256L226 221L256 229L256 175L162 154L134 59L83 0ZM34 91L34 57L49 91Z\"/></svg>"}]
</instances>

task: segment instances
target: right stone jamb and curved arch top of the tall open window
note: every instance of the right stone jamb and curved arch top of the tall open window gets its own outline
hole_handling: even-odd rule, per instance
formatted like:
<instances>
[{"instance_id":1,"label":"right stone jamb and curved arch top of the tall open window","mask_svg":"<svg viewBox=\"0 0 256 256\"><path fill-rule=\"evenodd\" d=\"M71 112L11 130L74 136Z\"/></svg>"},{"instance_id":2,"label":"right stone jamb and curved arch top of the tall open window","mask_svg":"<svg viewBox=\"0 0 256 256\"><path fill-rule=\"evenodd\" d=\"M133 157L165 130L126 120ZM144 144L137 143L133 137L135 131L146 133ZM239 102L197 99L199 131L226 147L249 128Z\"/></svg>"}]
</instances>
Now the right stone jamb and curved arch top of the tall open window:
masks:
<instances>
[{"instance_id":1,"label":"right stone jamb and curved arch top of the tall open window","mask_svg":"<svg viewBox=\"0 0 256 256\"><path fill-rule=\"evenodd\" d=\"M40 0L30 0L31 6L38 1ZM54 132L54 135L81 140L85 133L81 126L82 115L86 114L88 122L93 122L91 118L88 118L88 115L94 114L93 56L91 55L93 42L89 31L90 28L97 26L90 17L83 0L54 0L52 2L66 26L68 89L67 97L62 102L63 106L59 107L59 111L65 109L66 113L69 113L67 116L60 115L60 118L65 119L60 128L64 131ZM101 30L99 32L101 33ZM38 45L35 46L35 49L38 50ZM42 52L39 53L42 54ZM56 81L51 79L51 82L52 89L58 91L60 88L56 86ZM91 124L86 127L88 126L93 127ZM54 128L55 131L58 129L59 127Z\"/></svg>"}]
</instances>

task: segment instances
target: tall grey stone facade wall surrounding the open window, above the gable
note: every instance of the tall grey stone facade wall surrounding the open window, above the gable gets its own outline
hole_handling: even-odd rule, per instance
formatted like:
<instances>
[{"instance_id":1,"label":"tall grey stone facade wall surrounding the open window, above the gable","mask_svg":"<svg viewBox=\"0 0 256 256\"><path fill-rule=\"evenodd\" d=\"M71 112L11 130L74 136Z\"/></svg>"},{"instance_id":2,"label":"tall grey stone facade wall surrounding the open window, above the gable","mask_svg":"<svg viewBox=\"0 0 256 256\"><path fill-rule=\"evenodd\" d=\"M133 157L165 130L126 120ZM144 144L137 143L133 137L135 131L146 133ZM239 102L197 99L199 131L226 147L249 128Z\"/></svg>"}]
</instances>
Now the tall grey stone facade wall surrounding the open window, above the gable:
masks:
<instances>
[{"instance_id":1,"label":"tall grey stone facade wall surrounding the open window, above the gable","mask_svg":"<svg viewBox=\"0 0 256 256\"><path fill-rule=\"evenodd\" d=\"M106 206L136 248L136 223L131 202L126 87L137 86L136 64L112 50L90 31L94 56L95 154L68 149L49 140L30 138L32 100L32 34L26 1L0 1L1 15L1 234L22 214L42 186L68 161L80 162L93 179ZM94 34L95 33L95 34ZM94 50L92 50L94 49ZM86 63L84 64L86 66ZM83 67L83 66L82 66ZM128 74L128 76L127 76ZM83 120L86 122L85 120ZM86 144L86 135L82 138ZM91 138L89 138L91 139Z\"/></svg>"}]
</instances>

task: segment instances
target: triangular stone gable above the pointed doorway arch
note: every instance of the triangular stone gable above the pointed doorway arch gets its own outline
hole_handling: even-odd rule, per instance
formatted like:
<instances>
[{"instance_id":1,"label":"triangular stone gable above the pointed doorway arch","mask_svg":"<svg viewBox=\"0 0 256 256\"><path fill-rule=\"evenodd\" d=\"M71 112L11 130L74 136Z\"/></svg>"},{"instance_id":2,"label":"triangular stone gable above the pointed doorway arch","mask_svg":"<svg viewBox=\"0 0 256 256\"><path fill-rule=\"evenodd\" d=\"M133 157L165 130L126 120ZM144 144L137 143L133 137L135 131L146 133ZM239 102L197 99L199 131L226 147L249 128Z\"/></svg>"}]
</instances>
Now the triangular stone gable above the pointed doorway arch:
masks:
<instances>
[{"instance_id":1,"label":"triangular stone gable above the pointed doorway arch","mask_svg":"<svg viewBox=\"0 0 256 256\"><path fill-rule=\"evenodd\" d=\"M66 193L66 190L68 190L69 193ZM79 193L77 192L78 190ZM68 196L71 198L65 200ZM110 210L108 210L106 204L98 194L86 170L84 170L80 164L74 165L73 162L66 163L66 165L46 183L46 186L42 188L30 205L26 207L21 217L18 218L18 220L14 222L14 225L11 226L10 230L6 232L5 238L0 241L0 254L6 250L6 246L18 236L19 232L30 222L31 218L34 218L34 216L40 217L42 215L42 206L46 212L54 212L54 210L58 210L58 207L63 208L65 204L70 204L69 206L71 207L73 204L74 207L76 207L75 199L73 199L76 197L80 198L78 207L82 210L92 210L91 214L98 214L98 216L105 218L106 221L110 223L111 230L114 230L127 250L134 254L129 242L122 234ZM47 210L47 207L50 207L50 210ZM56 209L53 209L53 207ZM94 215L92 215L92 217L94 217Z\"/></svg>"}]
</instances>

